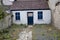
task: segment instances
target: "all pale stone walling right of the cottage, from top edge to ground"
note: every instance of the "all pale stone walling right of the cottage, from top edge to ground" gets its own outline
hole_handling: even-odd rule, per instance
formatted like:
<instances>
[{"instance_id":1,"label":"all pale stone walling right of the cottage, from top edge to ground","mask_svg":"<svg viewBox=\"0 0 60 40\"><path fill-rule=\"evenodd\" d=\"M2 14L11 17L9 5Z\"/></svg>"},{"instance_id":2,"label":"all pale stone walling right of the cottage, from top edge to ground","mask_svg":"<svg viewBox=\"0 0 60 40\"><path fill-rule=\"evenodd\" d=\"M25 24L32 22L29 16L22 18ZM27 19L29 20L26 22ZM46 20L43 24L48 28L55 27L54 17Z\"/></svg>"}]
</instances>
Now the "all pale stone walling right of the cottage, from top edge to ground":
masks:
<instances>
[{"instance_id":1,"label":"all pale stone walling right of the cottage, from top edge to ground","mask_svg":"<svg viewBox=\"0 0 60 40\"><path fill-rule=\"evenodd\" d=\"M60 3L56 6L56 3L60 0L49 0L48 4L52 12L52 25L60 29Z\"/></svg>"}]
</instances>

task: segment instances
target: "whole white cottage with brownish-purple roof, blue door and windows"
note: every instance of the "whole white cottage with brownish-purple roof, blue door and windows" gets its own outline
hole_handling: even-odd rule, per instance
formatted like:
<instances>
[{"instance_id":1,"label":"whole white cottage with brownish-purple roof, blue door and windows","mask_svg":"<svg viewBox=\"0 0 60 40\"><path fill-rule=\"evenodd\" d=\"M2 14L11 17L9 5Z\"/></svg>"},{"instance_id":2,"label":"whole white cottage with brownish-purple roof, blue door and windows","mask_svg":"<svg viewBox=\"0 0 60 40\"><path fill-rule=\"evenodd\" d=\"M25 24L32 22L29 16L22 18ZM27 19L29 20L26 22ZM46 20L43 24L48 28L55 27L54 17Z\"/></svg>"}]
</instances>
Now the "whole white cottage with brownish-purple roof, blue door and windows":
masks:
<instances>
[{"instance_id":1,"label":"whole white cottage with brownish-purple roof, blue door and windows","mask_svg":"<svg viewBox=\"0 0 60 40\"><path fill-rule=\"evenodd\" d=\"M15 24L51 23L51 10L46 0L15 0L10 10Z\"/></svg>"}]
</instances>

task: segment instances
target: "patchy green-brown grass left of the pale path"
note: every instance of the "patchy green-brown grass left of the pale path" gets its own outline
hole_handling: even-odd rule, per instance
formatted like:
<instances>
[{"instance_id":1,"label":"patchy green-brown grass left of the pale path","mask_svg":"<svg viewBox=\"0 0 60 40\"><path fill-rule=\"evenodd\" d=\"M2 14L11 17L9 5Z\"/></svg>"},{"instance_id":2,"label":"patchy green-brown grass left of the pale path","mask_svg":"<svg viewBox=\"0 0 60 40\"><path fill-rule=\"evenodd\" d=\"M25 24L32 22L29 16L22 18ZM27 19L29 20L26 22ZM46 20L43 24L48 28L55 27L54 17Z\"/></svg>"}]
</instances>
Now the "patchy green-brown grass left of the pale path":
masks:
<instances>
[{"instance_id":1,"label":"patchy green-brown grass left of the pale path","mask_svg":"<svg viewBox=\"0 0 60 40\"><path fill-rule=\"evenodd\" d=\"M0 40L16 40L18 34L26 27L26 25L13 24L10 28L0 31Z\"/></svg>"}]
</instances>

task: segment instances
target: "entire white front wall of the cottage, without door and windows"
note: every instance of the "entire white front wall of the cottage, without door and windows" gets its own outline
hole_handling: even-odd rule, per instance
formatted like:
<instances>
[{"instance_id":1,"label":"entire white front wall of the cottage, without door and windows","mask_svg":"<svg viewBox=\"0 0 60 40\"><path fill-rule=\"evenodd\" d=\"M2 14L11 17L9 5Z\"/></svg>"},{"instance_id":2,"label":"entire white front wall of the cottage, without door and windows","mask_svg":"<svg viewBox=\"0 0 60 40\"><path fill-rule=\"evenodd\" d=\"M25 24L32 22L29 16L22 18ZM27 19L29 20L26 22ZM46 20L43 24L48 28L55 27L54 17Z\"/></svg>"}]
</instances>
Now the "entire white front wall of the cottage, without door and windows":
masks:
<instances>
[{"instance_id":1,"label":"entire white front wall of the cottage, without door and windows","mask_svg":"<svg viewBox=\"0 0 60 40\"><path fill-rule=\"evenodd\" d=\"M43 20L38 20L38 11L43 11ZM15 13L20 12L20 21L15 20ZM13 23L15 24L27 24L27 12L33 12L34 24L49 24L51 22L50 10L28 10L28 11L12 11Z\"/></svg>"}]
</instances>

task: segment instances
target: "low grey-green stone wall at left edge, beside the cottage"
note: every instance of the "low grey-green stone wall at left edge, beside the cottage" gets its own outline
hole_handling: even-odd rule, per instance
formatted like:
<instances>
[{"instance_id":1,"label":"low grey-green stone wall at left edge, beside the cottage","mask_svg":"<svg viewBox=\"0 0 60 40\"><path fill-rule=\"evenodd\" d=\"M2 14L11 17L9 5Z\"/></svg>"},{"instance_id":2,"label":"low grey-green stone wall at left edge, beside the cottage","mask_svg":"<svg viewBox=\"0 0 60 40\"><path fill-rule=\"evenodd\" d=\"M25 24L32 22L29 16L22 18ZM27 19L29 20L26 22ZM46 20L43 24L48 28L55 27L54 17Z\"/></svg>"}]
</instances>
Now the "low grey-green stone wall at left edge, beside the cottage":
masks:
<instances>
[{"instance_id":1,"label":"low grey-green stone wall at left edge, beside the cottage","mask_svg":"<svg viewBox=\"0 0 60 40\"><path fill-rule=\"evenodd\" d=\"M0 20L0 30L11 26L11 15L6 16L4 19Z\"/></svg>"}]
</instances>

